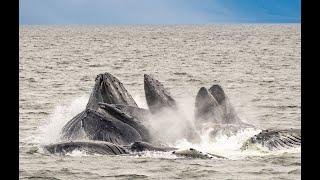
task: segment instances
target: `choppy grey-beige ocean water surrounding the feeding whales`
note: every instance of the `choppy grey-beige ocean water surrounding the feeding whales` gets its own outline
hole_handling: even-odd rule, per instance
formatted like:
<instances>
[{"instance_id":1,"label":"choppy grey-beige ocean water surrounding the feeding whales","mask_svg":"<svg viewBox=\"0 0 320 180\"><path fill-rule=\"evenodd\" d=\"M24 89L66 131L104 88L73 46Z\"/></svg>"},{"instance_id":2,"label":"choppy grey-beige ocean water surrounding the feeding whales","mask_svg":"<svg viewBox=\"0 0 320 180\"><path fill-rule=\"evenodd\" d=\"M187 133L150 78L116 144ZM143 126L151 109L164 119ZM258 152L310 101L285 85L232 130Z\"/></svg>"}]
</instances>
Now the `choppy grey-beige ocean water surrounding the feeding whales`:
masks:
<instances>
[{"instance_id":1,"label":"choppy grey-beige ocean water surrounding the feeding whales","mask_svg":"<svg viewBox=\"0 0 320 180\"><path fill-rule=\"evenodd\" d=\"M241 151L256 133L194 147L228 157L148 152L101 156L44 152L87 103L97 74L110 72L147 107L143 74L153 74L192 117L200 87L220 84L239 117L260 129L301 127L300 24L19 27L21 179L300 179L300 149ZM169 120L168 120L169 121ZM174 131L174 129L172 129Z\"/></svg>"}]
</instances>

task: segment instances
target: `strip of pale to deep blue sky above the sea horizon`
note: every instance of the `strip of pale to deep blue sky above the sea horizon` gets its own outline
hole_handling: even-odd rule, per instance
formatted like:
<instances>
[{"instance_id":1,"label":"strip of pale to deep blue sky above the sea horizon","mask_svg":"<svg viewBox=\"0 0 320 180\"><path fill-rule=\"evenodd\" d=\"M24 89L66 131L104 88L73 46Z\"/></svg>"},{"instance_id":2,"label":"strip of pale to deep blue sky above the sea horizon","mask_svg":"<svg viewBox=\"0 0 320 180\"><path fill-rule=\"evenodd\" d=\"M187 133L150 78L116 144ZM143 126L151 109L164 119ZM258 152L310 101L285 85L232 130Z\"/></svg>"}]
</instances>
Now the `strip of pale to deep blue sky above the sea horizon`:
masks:
<instances>
[{"instance_id":1,"label":"strip of pale to deep blue sky above the sea horizon","mask_svg":"<svg viewBox=\"0 0 320 180\"><path fill-rule=\"evenodd\" d=\"M300 0L19 0L20 24L300 23Z\"/></svg>"}]
</instances>

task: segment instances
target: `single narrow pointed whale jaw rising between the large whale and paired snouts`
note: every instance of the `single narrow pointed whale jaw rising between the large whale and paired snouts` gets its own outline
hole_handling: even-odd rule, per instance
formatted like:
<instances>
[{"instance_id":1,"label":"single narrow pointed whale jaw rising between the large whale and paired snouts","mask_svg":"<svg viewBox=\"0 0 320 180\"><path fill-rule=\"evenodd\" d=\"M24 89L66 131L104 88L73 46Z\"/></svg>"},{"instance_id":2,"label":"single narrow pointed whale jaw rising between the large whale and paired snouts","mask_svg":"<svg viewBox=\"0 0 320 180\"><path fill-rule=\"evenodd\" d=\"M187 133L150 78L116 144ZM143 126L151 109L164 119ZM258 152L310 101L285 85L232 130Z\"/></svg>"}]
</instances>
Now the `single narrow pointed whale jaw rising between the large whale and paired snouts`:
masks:
<instances>
[{"instance_id":1,"label":"single narrow pointed whale jaw rising between the large whale and paired snouts","mask_svg":"<svg viewBox=\"0 0 320 180\"><path fill-rule=\"evenodd\" d=\"M164 86L152 75L144 74L144 90L146 101L151 113L163 108L176 109L176 102Z\"/></svg>"}]
</instances>

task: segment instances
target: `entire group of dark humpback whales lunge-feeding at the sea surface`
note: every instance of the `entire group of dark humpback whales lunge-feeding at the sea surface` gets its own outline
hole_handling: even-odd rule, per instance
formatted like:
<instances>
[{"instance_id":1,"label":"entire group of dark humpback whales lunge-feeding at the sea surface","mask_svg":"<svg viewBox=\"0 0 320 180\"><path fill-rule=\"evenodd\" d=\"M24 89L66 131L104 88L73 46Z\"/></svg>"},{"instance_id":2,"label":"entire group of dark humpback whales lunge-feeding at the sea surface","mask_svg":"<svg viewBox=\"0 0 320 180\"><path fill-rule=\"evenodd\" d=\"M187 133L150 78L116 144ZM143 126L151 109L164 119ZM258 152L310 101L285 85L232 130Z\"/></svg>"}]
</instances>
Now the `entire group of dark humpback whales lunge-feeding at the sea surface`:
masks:
<instances>
[{"instance_id":1,"label":"entire group of dark humpback whales lunge-feeding at the sea surface","mask_svg":"<svg viewBox=\"0 0 320 180\"><path fill-rule=\"evenodd\" d=\"M152 114L169 109L178 113L178 105L164 86L152 75L144 75L144 90L148 109L139 108L123 84L110 73L97 75L85 110L72 118L63 127L60 143L45 145L50 153L65 154L73 150L84 150L97 154L130 154L141 151L166 151L176 155L223 158L204 154L195 149L177 150L155 138L148 125ZM183 118L183 115L181 115ZM195 100L194 125L185 122L184 137L199 142L198 132L213 129L217 133L230 135L252 127L240 120L228 97L219 85L209 89L201 87ZM250 144L259 144L269 150L300 146L300 129L267 129L251 137L243 149Z\"/></svg>"}]
</instances>

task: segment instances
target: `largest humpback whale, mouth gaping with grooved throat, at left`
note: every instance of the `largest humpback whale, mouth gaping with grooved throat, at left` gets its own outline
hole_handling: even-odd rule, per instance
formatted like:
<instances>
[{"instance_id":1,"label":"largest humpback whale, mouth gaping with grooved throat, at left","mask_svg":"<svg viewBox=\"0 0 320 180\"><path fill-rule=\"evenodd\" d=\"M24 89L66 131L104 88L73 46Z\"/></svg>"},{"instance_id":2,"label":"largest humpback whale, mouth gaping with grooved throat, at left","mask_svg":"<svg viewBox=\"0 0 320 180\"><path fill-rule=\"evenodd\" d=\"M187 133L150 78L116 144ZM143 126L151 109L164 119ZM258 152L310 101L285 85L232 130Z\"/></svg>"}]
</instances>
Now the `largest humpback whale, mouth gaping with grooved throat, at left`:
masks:
<instances>
[{"instance_id":1,"label":"largest humpback whale, mouth gaping with grooved throat, at left","mask_svg":"<svg viewBox=\"0 0 320 180\"><path fill-rule=\"evenodd\" d=\"M151 140L141 120L108 104L138 109L132 96L117 78L110 73L99 74L95 79L86 109L63 127L62 138L66 140L87 138L121 145Z\"/></svg>"}]
</instances>

